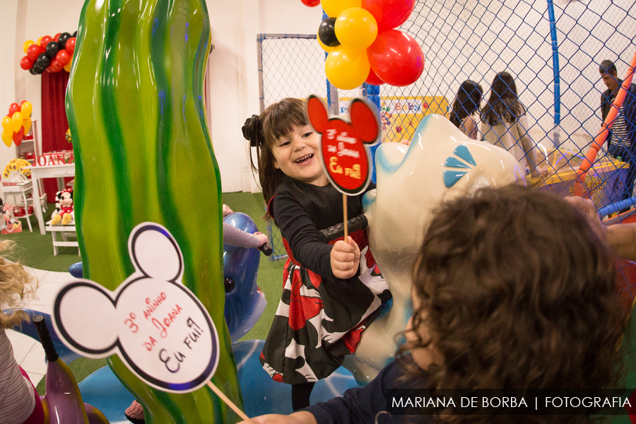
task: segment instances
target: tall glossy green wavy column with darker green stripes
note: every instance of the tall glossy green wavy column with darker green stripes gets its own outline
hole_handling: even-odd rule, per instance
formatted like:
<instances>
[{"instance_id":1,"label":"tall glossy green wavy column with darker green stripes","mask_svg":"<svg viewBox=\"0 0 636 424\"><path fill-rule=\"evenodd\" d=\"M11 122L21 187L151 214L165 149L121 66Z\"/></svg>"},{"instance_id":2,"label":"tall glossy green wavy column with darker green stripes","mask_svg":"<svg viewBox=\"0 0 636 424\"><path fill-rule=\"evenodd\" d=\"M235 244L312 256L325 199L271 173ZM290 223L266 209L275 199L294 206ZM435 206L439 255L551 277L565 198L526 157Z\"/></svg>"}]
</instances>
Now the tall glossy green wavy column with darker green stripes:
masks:
<instances>
[{"instance_id":1,"label":"tall glossy green wavy column with darker green stripes","mask_svg":"<svg viewBox=\"0 0 636 424\"><path fill-rule=\"evenodd\" d=\"M88 0L66 91L76 157L76 228L85 278L114 290L134 272L127 242L152 221L175 236L184 284L219 331L213 382L242 406L223 319L220 175L206 124L205 0ZM148 424L235 423L210 389L169 394L108 363Z\"/></svg>"}]
</instances>

